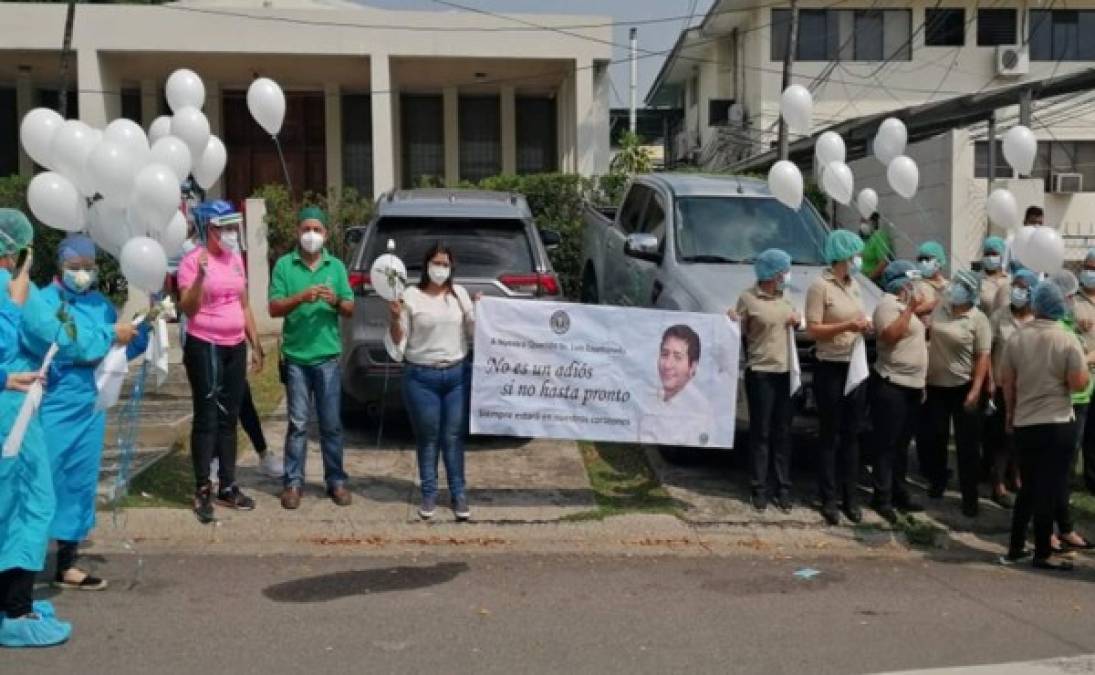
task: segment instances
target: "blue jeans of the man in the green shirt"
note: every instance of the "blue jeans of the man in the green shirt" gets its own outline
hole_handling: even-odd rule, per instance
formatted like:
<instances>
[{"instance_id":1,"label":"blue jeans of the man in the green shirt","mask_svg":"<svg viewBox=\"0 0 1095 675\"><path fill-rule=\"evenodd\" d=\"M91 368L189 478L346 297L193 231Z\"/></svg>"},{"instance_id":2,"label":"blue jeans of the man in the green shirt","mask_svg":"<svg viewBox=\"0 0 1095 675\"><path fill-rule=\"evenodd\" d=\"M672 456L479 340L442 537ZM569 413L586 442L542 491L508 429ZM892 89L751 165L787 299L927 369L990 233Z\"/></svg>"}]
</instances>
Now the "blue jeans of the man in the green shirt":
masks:
<instances>
[{"instance_id":1,"label":"blue jeans of the man in the green shirt","mask_svg":"<svg viewBox=\"0 0 1095 675\"><path fill-rule=\"evenodd\" d=\"M286 391L289 408L289 428L285 435L285 485L300 488L304 484L304 460L308 457L308 420L312 399L320 422L320 447L323 450L323 479L328 490L346 482L343 469L343 439L339 402L342 373L338 359L301 366L287 362Z\"/></svg>"}]
</instances>

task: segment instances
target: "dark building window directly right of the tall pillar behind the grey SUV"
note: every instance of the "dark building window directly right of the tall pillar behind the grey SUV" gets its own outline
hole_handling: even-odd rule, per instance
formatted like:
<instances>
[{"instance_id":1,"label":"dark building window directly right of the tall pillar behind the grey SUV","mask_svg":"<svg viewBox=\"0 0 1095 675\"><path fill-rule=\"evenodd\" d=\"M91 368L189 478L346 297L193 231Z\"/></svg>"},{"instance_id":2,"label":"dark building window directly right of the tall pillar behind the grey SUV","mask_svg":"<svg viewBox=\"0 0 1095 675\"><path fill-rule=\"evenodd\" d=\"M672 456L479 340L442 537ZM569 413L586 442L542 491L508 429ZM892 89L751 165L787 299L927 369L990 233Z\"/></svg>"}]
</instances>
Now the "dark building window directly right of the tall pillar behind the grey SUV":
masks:
<instances>
[{"instance_id":1,"label":"dark building window directly right of the tall pillar behind the grey SUV","mask_svg":"<svg viewBox=\"0 0 1095 675\"><path fill-rule=\"evenodd\" d=\"M403 187L445 180L445 105L438 94L400 99Z\"/></svg>"}]
</instances>

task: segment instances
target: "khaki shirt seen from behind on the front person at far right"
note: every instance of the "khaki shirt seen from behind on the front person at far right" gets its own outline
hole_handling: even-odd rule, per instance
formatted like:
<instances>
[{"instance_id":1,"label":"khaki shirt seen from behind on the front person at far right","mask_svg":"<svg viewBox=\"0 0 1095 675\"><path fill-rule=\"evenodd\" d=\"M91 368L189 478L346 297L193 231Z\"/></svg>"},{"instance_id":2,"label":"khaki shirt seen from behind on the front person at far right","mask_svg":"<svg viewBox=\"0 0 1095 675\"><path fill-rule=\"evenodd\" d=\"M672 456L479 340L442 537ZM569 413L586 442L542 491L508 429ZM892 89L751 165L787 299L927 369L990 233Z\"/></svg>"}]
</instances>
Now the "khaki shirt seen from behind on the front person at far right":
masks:
<instances>
[{"instance_id":1,"label":"khaki shirt seen from behind on the front person at far right","mask_svg":"<svg viewBox=\"0 0 1095 675\"><path fill-rule=\"evenodd\" d=\"M1076 339L1057 321L1036 319L1007 341L1006 350L1004 367L1015 374L1015 426L1071 422L1068 376L1086 368Z\"/></svg>"}]
</instances>

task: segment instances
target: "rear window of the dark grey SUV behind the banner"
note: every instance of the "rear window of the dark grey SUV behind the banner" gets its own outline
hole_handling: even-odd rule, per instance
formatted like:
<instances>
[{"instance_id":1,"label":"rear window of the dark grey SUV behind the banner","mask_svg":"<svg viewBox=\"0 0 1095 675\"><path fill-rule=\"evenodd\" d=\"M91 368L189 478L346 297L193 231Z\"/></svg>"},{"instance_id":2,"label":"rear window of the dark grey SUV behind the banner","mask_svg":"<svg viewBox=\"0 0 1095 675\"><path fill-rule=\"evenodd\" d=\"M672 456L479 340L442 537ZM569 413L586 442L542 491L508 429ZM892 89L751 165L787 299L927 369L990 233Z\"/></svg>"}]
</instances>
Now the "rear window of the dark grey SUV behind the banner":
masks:
<instances>
[{"instance_id":1,"label":"rear window of the dark grey SUV behind the banner","mask_svg":"<svg viewBox=\"0 0 1095 675\"><path fill-rule=\"evenodd\" d=\"M369 233L358 265L368 268L395 242L407 270L420 271L426 252L438 241L452 250L458 276L497 277L535 271L532 247L521 220L472 218L381 218ZM417 277L417 274L413 275Z\"/></svg>"}]
</instances>

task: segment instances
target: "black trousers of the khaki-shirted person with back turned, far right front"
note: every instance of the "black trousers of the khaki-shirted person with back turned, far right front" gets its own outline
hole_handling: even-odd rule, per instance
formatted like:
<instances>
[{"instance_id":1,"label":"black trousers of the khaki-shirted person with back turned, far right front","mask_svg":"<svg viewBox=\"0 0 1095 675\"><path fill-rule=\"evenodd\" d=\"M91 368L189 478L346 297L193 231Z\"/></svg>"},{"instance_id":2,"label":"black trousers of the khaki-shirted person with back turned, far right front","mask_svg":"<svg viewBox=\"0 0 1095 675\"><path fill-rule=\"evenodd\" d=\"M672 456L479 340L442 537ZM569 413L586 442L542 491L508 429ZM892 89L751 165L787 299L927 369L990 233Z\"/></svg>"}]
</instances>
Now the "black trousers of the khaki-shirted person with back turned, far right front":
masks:
<instances>
[{"instance_id":1,"label":"black trousers of the khaki-shirted person with back turned, far right front","mask_svg":"<svg viewBox=\"0 0 1095 675\"><path fill-rule=\"evenodd\" d=\"M1023 487L1012 512L1013 551L1023 549L1033 516L1035 558L1045 560L1052 552L1053 519L1069 481L1075 437L1072 422L1016 427L1015 446Z\"/></svg>"}]
</instances>

